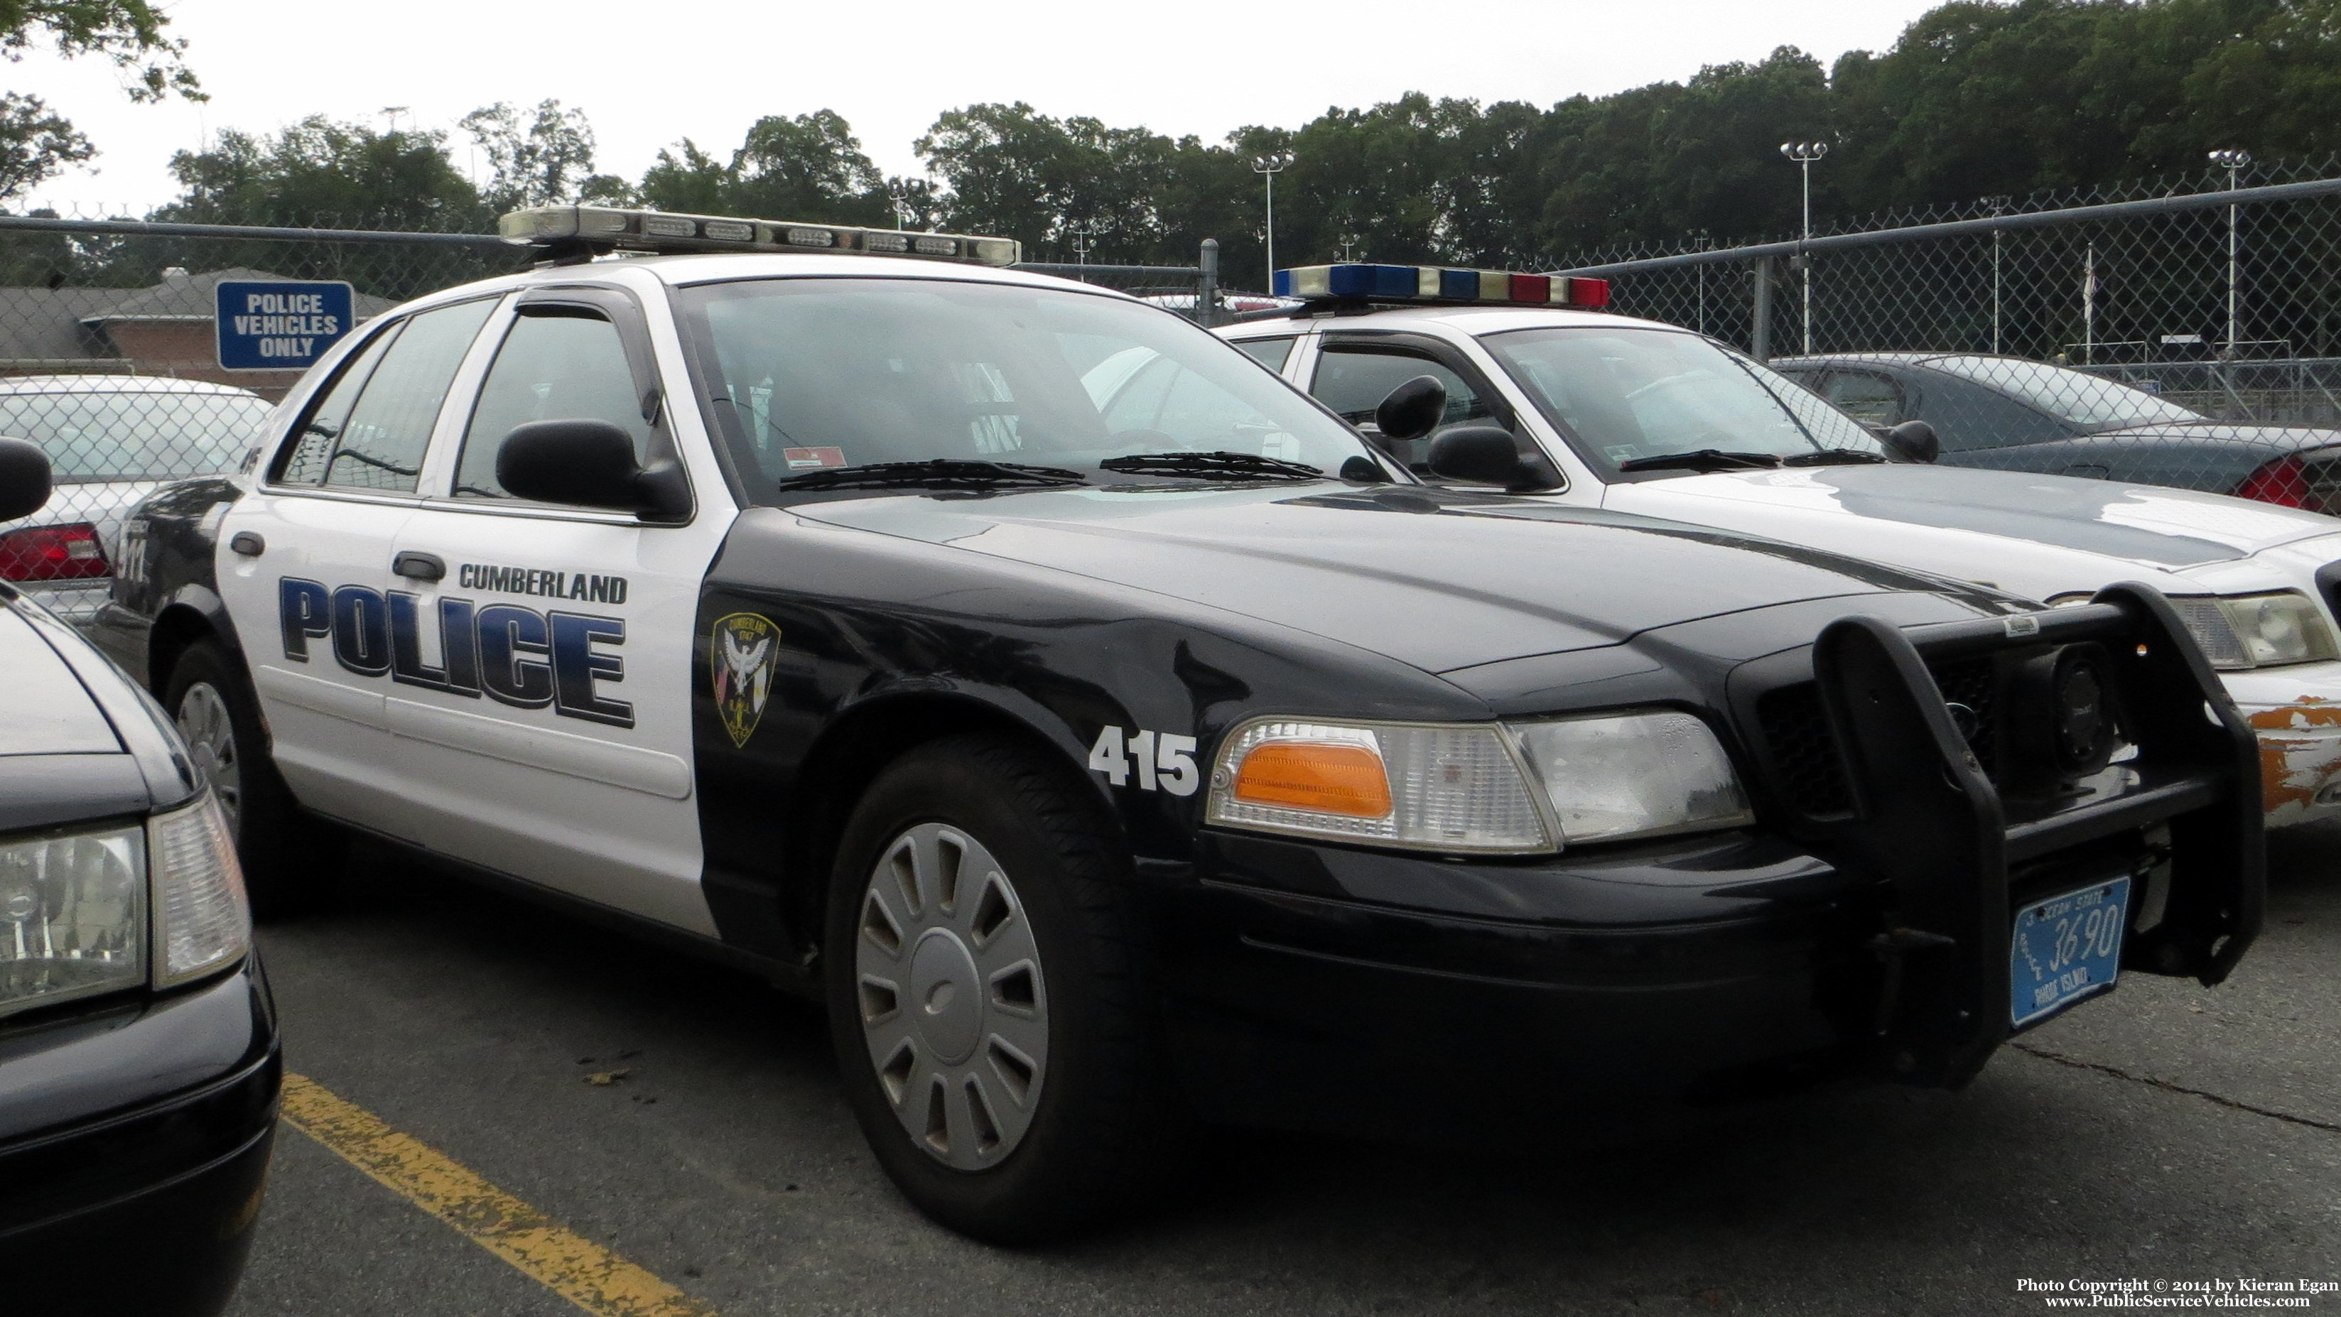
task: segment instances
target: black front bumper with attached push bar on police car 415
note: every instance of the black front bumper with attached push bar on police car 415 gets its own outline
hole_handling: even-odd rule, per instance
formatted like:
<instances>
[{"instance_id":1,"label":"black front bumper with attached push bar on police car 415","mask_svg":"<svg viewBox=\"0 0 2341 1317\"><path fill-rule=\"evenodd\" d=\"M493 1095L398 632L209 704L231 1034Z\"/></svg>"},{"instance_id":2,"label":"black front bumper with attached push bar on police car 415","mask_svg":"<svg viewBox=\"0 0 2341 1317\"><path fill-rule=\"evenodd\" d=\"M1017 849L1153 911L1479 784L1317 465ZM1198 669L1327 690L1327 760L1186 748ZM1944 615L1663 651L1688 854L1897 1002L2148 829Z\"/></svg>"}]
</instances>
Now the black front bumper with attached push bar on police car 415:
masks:
<instances>
[{"instance_id":1,"label":"black front bumper with attached push bar on police car 415","mask_svg":"<svg viewBox=\"0 0 2341 1317\"><path fill-rule=\"evenodd\" d=\"M2102 648L2137 753L2086 791L2002 798L1929 662L2060 646ZM2252 737L2203 716L2217 681L2161 597L2114 587L2023 632L1849 618L1777 660L1770 688L1782 664L1819 688L1845 812L1529 863L1206 835L1156 884L1189 1099L1472 1139L1838 1078L1957 1088L2016 1032L2023 903L2133 877L2121 966L2203 982L2257 933Z\"/></svg>"}]
</instances>

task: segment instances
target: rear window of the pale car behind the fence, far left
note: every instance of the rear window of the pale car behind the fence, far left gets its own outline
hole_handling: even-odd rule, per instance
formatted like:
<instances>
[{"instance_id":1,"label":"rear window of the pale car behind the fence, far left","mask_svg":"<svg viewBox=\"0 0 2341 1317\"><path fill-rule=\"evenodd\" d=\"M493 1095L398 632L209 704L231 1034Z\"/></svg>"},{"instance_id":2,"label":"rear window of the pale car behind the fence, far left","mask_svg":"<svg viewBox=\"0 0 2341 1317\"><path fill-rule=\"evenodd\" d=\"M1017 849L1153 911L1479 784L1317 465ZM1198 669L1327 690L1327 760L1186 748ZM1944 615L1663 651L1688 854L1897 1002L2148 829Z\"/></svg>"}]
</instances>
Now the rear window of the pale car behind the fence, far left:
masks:
<instances>
[{"instance_id":1,"label":"rear window of the pale car behind the fence, far left","mask_svg":"<svg viewBox=\"0 0 2341 1317\"><path fill-rule=\"evenodd\" d=\"M185 480L236 470L276 407L250 393L7 393L0 435L49 454L52 480Z\"/></svg>"}]
</instances>

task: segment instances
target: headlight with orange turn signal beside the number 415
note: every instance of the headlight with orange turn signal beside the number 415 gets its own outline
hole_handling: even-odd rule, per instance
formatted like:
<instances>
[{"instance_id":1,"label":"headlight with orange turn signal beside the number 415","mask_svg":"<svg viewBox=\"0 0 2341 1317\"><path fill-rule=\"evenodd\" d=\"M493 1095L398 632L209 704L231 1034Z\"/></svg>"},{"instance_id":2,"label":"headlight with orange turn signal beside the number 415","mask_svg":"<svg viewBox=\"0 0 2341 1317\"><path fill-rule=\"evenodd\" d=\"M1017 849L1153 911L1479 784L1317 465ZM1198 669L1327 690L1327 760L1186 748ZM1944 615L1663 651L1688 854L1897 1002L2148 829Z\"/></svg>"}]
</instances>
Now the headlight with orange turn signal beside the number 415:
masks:
<instances>
[{"instance_id":1,"label":"headlight with orange turn signal beside the number 415","mask_svg":"<svg viewBox=\"0 0 2341 1317\"><path fill-rule=\"evenodd\" d=\"M1732 828L1753 816L1723 746L1690 713L1550 723L1238 725L1206 819L1444 854Z\"/></svg>"}]
</instances>

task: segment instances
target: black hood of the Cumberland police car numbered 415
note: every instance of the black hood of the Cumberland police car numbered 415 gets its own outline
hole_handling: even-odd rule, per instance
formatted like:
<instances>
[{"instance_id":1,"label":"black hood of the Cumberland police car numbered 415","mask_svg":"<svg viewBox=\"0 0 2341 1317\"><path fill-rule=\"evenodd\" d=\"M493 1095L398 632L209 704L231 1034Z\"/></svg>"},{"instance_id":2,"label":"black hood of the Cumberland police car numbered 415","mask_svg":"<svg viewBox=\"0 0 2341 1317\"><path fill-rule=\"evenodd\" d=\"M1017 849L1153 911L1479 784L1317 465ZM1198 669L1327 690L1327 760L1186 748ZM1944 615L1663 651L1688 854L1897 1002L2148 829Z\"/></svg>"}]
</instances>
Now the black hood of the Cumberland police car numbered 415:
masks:
<instances>
[{"instance_id":1,"label":"black hood of the Cumberland police car numbered 415","mask_svg":"<svg viewBox=\"0 0 2341 1317\"><path fill-rule=\"evenodd\" d=\"M1962 594L1936 578L1702 526L1414 487L1084 487L791 512L1299 627L1423 671L1611 646L1805 599L1845 597L1859 613L1863 597ZM1983 594L1969 604L1995 606Z\"/></svg>"}]
</instances>

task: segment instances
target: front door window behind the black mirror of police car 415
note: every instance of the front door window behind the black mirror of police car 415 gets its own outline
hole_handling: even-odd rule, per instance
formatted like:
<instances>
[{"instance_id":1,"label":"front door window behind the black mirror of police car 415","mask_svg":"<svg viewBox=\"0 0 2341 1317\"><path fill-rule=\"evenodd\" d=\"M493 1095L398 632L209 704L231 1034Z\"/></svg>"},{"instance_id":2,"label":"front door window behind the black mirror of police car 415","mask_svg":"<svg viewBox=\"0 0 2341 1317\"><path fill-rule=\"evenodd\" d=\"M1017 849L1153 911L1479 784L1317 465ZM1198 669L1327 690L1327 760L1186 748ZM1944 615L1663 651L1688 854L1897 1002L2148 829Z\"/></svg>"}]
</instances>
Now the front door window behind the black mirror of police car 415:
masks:
<instances>
[{"instance_id":1,"label":"front door window behind the black mirror of police car 415","mask_svg":"<svg viewBox=\"0 0 2341 1317\"><path fill-rule=\"evenodd\" d=\"M496 484L496 449L529 421L609 421L634 437L634 461L648 461L651 423L618 325L585 306L520 309L464 430L456 498L510 498Z\"/></svg>"}]
</instances>

